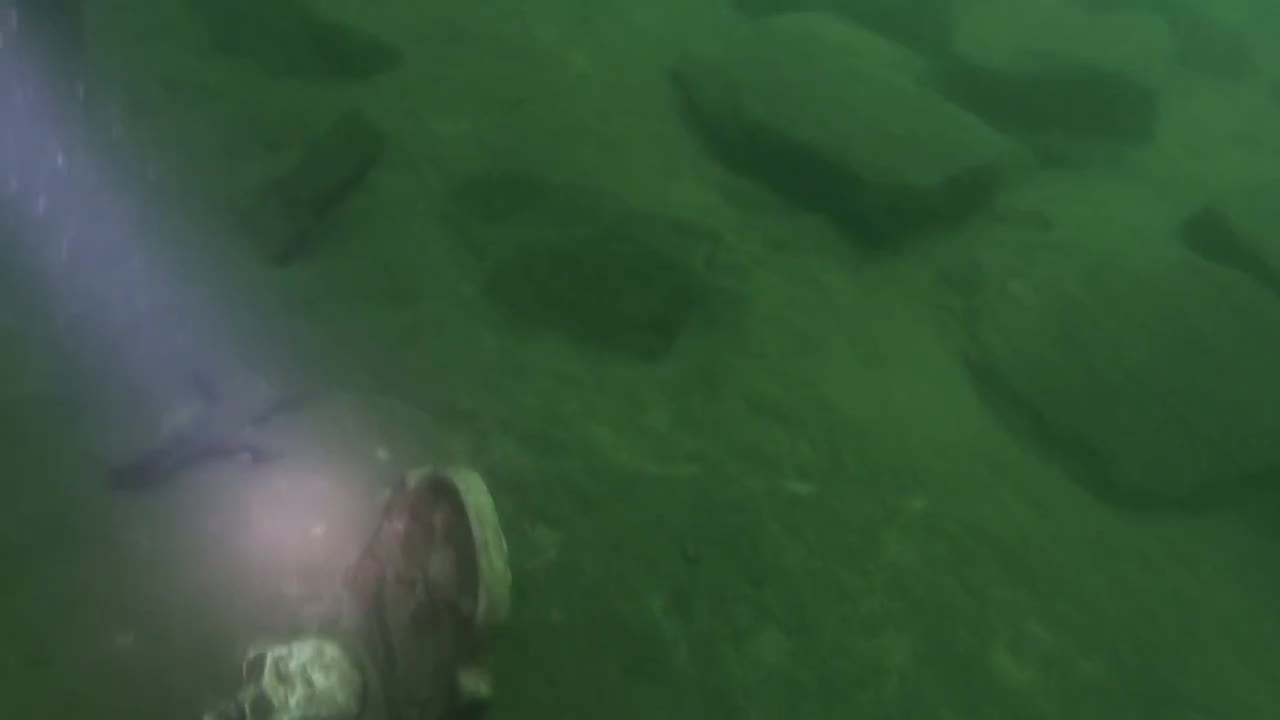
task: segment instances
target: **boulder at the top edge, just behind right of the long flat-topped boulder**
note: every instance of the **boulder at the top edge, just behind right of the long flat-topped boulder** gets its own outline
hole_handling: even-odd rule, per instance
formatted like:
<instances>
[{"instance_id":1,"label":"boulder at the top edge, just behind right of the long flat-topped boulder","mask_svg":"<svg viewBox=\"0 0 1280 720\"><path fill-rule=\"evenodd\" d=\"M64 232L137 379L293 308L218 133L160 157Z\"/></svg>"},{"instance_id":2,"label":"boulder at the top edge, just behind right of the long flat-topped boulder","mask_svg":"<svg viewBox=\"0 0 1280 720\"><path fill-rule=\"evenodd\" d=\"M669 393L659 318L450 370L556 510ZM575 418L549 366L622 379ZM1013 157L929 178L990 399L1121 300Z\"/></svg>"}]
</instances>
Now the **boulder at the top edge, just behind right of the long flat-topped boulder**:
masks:
<instances>
[{"instance_id":1,"label":"boulder at the top edge, just behind right of the long flat-topped boulder","mask_svg":"<svg viewBox=\"0 0 1280 720\"><path fill-rule=\"evenodd\" d=\"M1172 63L1164 20L1061 1L965 4L952 56L934 68L948 99L1037 150L1076 161L1091 142L1152 141Z\"/></svg>"}]
</instances>

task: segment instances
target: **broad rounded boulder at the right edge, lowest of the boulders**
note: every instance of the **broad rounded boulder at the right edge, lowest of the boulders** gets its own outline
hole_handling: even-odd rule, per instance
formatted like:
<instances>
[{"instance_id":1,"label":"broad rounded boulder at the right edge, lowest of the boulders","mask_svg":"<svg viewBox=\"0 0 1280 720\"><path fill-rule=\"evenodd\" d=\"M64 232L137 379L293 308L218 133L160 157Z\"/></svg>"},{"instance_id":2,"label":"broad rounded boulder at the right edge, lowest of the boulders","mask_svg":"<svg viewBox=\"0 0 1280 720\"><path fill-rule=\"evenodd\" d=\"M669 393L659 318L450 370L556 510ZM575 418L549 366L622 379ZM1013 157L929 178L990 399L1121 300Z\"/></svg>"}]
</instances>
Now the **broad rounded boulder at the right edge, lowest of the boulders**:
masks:
<instances>
[{"instance_id":1,"label":"broad rounded boulder at the right edge, lowest of the boulders","mask_svg":"<svg viewBox=\"0 0 1280 720\"><path fill-rule=\"evenodd\" d=\"M1189 510L1276 487L1280 302L1189 252L1172 219L1111 224L987 233L950 284L970 301L980 396L1117 505Z\"/></svg>"}]
</instances>

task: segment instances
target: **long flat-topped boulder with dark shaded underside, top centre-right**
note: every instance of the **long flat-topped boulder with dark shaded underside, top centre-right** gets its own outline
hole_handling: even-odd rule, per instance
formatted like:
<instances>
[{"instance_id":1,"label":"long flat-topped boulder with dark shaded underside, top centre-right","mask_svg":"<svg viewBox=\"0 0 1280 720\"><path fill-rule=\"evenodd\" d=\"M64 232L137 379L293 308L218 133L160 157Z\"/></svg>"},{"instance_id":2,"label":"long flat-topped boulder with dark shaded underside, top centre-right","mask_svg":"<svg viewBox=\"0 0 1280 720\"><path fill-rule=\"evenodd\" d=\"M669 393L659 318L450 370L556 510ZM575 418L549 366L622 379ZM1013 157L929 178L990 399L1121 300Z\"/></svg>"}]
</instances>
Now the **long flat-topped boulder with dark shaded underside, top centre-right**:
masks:
<instances>
[{"instance_id":1,"label":"long flat-topped boulder with dark shaded underside, top centre-right","mask_svg":"<svg viewBox=\"0 0 1280 720\"><path fill-rule=\"evenodd\" d=\"M927 70L841 18L796 13L746 23L675 81L728 168L888 250L983 209L1020 155L931 90Z\"/></svg>"}]
</instances>

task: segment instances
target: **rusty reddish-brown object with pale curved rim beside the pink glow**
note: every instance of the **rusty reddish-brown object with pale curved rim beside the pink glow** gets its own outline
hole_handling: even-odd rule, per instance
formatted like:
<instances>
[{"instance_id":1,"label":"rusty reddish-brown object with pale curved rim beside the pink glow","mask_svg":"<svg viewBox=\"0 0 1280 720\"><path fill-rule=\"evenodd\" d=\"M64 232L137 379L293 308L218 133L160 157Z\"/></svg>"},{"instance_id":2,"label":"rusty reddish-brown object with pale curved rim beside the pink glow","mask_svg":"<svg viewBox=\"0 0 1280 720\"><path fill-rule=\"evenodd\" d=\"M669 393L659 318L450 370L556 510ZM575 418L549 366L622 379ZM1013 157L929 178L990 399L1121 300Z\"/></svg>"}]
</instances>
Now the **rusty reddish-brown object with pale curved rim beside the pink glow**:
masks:
<instances>
[{"instance_id":1,"label":"rusty reddish-brown object with pale curved rim beside the pink glow","mask_svg":"<svg viewBox=\"0 0 1280 720\"><path fill-rule=\"evenodd\" d=\"M388 717L483 714L493 694L490 643L511 606L511 569L477 473L408 473L352 568L347 592Z\"/></svg>"}]
</instances>

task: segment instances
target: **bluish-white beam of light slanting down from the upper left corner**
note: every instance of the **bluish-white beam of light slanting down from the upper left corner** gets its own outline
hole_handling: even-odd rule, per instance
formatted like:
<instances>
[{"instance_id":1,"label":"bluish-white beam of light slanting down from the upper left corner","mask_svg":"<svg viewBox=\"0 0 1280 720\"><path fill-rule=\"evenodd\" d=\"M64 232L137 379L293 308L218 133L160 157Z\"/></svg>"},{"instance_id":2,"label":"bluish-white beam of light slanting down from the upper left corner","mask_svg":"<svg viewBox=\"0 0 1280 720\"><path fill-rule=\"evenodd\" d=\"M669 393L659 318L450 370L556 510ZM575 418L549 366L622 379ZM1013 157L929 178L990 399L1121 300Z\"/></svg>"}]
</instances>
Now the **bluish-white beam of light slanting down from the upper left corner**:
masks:
<instances>
[{"instance_id":1,"label":"bluish-white beam of light slanting down from the upper left corner","mask_svg":"<svg viewBox=\"0 0 1280 720\"><path fill-rule=\"evenodd\" d=\"M172 393L177 375L241 357L229 302L191 272L198 243L174 234L177 213L147 206L136 173L102 160L93 145L110 137L87 124L79 63L29 26L19 0L0 0L0 261L67 360L91 370L81 380Z\"/></svg>"}]
</instances>

